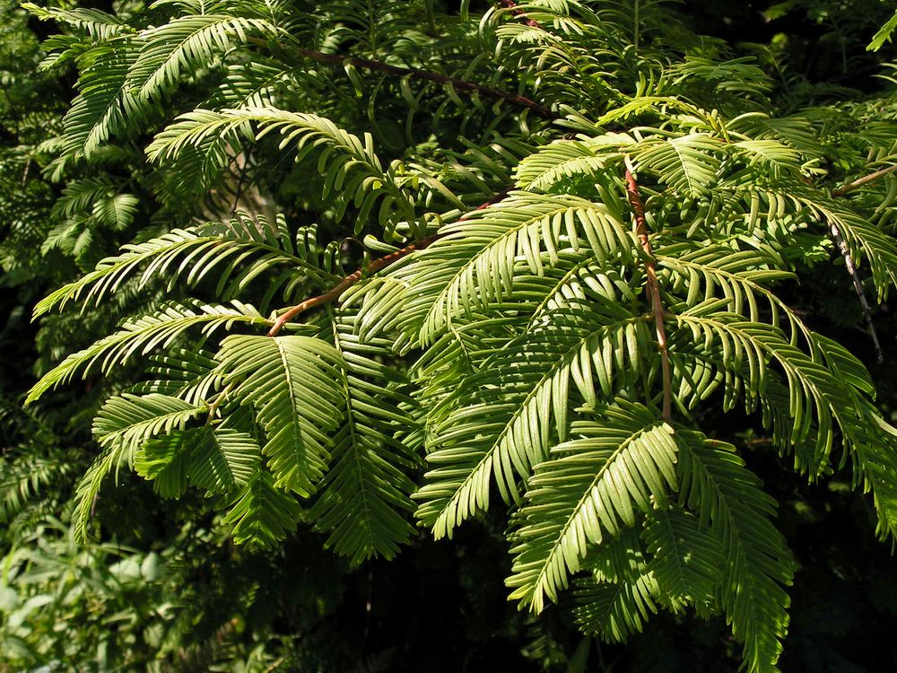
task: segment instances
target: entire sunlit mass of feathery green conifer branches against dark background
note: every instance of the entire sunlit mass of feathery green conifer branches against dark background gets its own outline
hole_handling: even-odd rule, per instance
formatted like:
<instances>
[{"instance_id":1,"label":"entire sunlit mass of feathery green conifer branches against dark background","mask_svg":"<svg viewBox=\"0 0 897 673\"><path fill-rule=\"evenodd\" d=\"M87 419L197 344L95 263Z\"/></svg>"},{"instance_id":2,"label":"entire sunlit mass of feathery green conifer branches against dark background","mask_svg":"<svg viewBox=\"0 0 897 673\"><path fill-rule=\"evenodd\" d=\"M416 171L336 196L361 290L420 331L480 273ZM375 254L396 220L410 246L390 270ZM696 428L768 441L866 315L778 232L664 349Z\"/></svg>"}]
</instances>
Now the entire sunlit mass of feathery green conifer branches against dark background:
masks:
<instances>
[{"instance_id":1,"label":"entire sunlit mass of feathery green conifer branches against dark background","mask_svg":"<svg viewBox=\"0 0 897 673\"><path fill-rule=\"evenodd\" d=\"M893 540L897 430L801 292L832 260L858 320L893 291L897 133L859 151L873 111L796 112L666 10L502 5L427 31L431 4L159 3L134 30L35 10L92 40L66 161L154 134L162 202L239 166L237 200L249 176L286 213L147 237L37 305L172 295L30 391L152 357L97 417L78 533L121 468L204 493L240 543L308 524L354 563L399 553L412 517L450 538L500 501L521 607L573 585L610 641L720 614L745 669L775 670L795 564L749 449L709 419L747 415L810 481L849 465ZM182 84L203 101L166 117ZM129 194L79 180L57 212L115 229Z\"/></svg>"}]
</instances>

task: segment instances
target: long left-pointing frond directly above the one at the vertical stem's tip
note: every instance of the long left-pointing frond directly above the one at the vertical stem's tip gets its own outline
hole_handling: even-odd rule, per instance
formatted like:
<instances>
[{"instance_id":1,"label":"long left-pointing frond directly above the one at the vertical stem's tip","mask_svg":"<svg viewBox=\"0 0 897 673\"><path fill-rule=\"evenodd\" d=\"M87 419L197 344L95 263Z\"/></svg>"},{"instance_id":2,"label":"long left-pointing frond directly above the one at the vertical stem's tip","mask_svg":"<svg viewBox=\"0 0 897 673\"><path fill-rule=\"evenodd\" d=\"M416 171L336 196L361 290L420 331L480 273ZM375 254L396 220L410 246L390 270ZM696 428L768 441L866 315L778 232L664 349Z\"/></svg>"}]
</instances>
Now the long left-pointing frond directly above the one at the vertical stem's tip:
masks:
<instances>
[{"instance_id":1,"label":"long left-pointing frond directly above the one at the vertical stem's tip","mask_svg":"<svg viewBox=\"0 0 897 673\"><path fill-rule=\"evenodd\" d=\"M456 408L435 431L427 457L435 469L416 496L424 501L418 516L437 538L488 506L493 479L506 502L518 500L518 477L566 441L573 399L609 401L620 381L644 371L653 349L646 317L610 302L600 308L603 315L557 311L462 383Z\"/></svg>"}]
</instances>

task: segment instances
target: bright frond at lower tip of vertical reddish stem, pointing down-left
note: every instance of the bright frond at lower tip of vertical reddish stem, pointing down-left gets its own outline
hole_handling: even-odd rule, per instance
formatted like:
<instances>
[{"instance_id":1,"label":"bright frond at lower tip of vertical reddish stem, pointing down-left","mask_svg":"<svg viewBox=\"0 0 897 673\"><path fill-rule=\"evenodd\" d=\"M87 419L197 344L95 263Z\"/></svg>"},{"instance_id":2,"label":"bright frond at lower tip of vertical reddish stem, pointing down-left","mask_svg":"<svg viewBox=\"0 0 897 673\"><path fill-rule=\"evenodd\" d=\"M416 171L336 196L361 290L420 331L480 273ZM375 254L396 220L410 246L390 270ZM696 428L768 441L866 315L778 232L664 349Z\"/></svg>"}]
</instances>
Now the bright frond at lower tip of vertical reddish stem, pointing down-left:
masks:
<instances>
[{"instance_id":1,"label":"bright frond at lower tip of vertical reddish stem, pointing down-left","mask_svg":"<svg viewBox=\"0 0 897 673\"><path fill-rule=\"evenodd\" d=\"M573 439L536 465L520 511L511 598L539 612L579 571L588 544L635 524L635 512L666 502L675 488L673 429L652 410L619 401L574 421Z\"/></svg>"}]
</instances>

